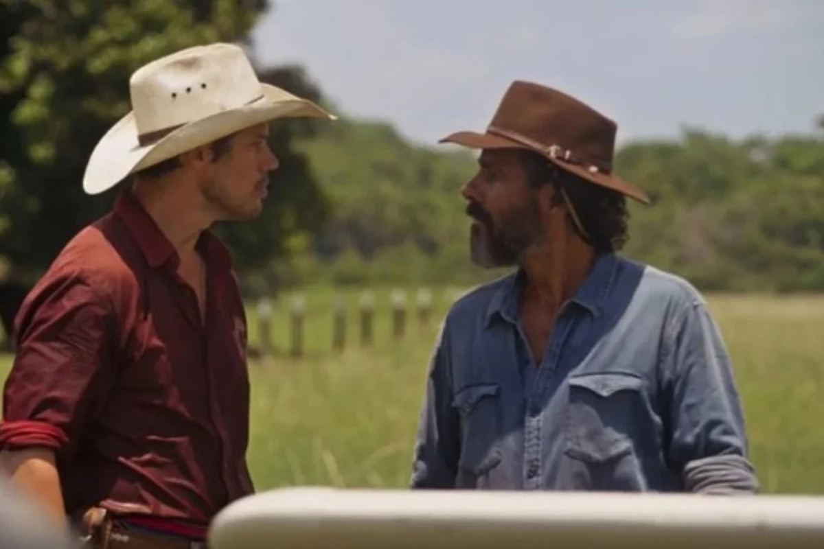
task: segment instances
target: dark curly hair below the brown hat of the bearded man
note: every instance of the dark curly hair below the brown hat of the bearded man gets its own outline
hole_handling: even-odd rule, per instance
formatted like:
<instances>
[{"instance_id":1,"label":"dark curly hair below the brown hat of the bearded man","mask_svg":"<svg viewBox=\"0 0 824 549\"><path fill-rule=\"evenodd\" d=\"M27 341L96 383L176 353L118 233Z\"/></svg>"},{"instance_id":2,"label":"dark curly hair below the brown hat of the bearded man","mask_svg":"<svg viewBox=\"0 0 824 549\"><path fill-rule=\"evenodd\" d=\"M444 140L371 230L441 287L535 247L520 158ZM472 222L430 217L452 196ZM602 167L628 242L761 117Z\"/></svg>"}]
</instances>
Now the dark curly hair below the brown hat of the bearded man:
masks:
<instances>
[{"instance_id":1,"label":"dark curly hair below the brown hat of the bearded man","mask_svg":"<svg viewBox=\"0 0 824 549\"><path fill-rule=\"evenodd\" d=\"M563 204L560 189L564 189L575 215L581 221L582 235L573 223L575 231L585 242L599 253L614 252L624 247L627 240L627 219L630 214L626 209L623 194L592 184L568 171L561 170L552 162L533 151L521 151L522 165L527 170L529 185L533 188L551 184L555 188L555 203ZM569 215L569 213L567 214Z\"/></svg>"}]
</instances>

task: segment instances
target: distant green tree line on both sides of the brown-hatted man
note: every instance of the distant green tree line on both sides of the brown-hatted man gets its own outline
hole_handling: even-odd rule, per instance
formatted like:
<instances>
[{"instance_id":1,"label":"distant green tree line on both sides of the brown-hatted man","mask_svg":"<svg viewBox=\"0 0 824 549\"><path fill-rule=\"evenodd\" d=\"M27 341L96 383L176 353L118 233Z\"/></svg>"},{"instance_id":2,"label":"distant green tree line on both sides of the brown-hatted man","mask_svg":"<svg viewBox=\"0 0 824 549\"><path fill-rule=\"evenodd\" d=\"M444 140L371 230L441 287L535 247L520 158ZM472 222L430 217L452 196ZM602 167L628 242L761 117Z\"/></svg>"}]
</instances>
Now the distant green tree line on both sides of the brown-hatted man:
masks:
<instances>
[{"instance_id":1,"label":"distant green tree line on both sides of the brown-hatted man","mask_svg":"<svg viewBox=\"0 0 824 549\"><path fill-rule=\"evenodd\" d=\"M824 132L735 141L686 128L677 140L631 142L616 173L644 188L630 201L632 258L706 290L824 289ZM293 279L337 284L472 283L458 191L466 152L415 147L382 123L344 121L300 143L333 215Z\"/></svg>"}]
</instances>

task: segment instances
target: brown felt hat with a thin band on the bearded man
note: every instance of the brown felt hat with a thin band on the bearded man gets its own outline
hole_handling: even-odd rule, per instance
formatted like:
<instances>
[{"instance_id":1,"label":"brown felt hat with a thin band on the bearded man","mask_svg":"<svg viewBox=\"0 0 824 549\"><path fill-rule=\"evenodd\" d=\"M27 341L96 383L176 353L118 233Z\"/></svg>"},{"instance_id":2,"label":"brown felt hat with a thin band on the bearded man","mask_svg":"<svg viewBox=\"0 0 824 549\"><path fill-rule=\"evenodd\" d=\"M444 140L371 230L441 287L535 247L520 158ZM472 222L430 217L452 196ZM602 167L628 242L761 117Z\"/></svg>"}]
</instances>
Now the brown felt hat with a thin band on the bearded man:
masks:
<instances>
[{"instance_id":1,"label":"brown felt hat with a thin band on the bearded man","mask_svg":"<svg viewBox=\"0 0 824 549\"><path fill-rule=\"evenodd\" d=\"M439 142L536 151L563 170L648 204L647 193L612 174L617 128L611 119L561 91L514 81L486 133L457 132Z\"/></svg>"}]
</instances>

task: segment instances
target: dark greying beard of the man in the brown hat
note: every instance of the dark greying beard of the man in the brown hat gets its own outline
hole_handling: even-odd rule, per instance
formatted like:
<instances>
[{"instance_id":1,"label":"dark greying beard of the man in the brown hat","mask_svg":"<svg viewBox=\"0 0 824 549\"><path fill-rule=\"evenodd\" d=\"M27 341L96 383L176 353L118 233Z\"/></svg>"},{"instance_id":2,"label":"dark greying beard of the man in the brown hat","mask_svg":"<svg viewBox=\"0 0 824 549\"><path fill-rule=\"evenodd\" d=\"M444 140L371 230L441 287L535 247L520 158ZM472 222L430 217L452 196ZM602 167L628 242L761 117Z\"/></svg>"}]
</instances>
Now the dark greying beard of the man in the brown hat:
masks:
<instances>
[{"instance_id":1,"label":"dark greying beard of the man in the brown hat","mask_svg":"<svg viewBox=\"0 0 824 549\"><path fill-rule=\"evenodd\" d=\"M471 260L482 268L517 265L541 235L537 202L513 208L498 222L476 202L466 207L466 213L475 220L470 230Z\"/></svg>"}]
</instances>

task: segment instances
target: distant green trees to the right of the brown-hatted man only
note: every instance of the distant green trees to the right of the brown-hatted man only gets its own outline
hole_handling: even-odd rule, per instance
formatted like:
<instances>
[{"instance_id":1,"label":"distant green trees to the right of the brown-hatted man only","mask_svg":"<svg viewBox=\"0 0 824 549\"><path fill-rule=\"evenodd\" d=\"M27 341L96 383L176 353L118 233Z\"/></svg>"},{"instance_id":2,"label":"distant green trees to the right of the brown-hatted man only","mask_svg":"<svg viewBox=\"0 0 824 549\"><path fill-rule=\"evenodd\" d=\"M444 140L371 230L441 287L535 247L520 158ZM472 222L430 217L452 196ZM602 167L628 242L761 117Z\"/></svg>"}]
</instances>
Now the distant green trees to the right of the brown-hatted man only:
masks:
<instances>
[{"instance_id":1,"label":"distant green trees to the right of the brown-hatted man only","mask_svg":"<svg viewBox=\"0 0 824 549\"><path fill-rule=\"evenodd\" d=\"M824 140L688 132L635 143L616 170L650 189L633 207L626 253L708 290L824 288Z\"/></svg>"}]
</instances>

